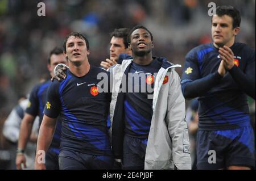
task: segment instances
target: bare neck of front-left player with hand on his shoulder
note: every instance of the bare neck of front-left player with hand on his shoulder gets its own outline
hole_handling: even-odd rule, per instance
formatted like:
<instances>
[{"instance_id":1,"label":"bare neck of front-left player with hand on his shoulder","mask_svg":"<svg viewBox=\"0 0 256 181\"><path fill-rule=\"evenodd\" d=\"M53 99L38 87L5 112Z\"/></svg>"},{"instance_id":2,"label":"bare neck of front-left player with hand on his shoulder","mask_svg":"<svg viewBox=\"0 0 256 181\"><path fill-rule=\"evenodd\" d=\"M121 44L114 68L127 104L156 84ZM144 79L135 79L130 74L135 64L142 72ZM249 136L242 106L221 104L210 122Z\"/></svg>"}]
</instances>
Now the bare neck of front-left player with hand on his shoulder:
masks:
<instances>
[{"instance_id":1,"label":"bare neck of front-left player with hand on his shoulder","mask_svg":"<svg viewBox=\"0 0 256 181\"><path fill-rule=\"evenodd\" d=\"M82 77L89 72L90 64L88 60L82 62L80 65L74 64L73 62L69 62L69 70L72 72L72 74L76 75L77 77Z\"/></svg>"}]
</instances>

